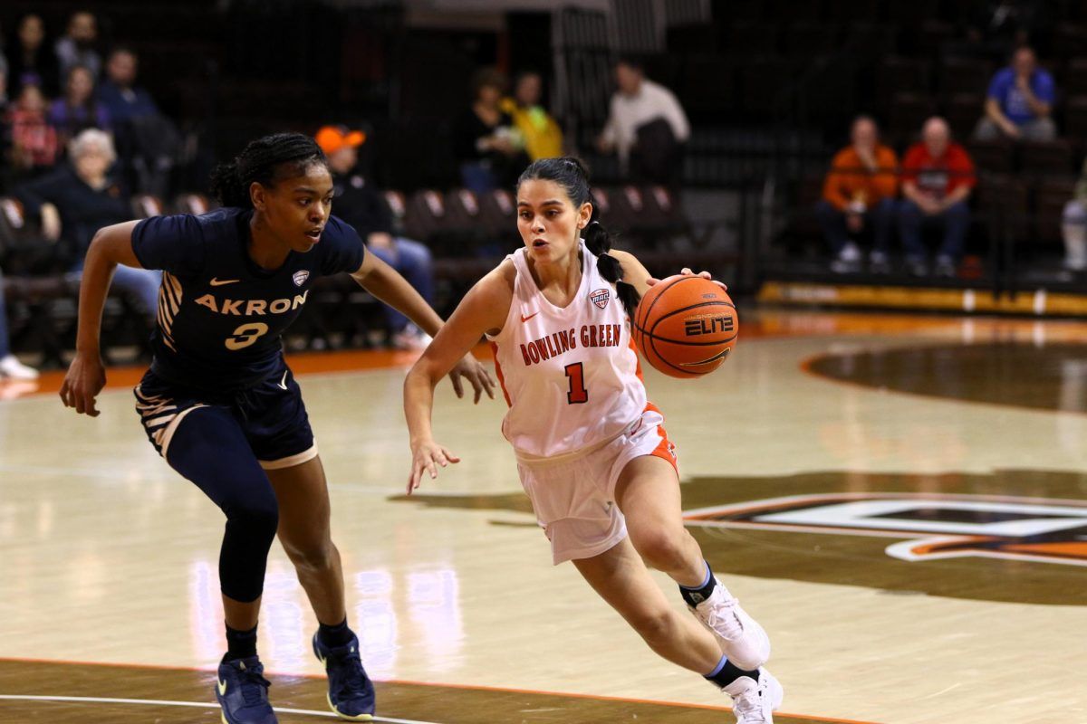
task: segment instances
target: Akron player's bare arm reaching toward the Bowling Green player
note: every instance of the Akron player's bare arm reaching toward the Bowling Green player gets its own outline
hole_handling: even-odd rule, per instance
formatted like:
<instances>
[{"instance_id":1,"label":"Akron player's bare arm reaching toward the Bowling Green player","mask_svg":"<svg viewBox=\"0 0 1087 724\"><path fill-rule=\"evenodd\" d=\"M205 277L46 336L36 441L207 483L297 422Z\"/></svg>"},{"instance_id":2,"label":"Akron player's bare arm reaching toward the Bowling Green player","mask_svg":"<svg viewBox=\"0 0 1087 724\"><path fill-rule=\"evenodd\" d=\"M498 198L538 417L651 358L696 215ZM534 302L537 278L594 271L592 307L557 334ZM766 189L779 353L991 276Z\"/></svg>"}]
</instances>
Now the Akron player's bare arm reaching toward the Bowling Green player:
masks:
<instances>
[{"instance_id":1,"label":"Akron player's bare arm reaching toward the Bowling Green player","mask_svg":"<svg viewBox=\"0 0 1087 724\"><path fill-rule=\"evenodd\" d=\"M367 253L363 257L362 266L351 277L371 294L415 322L424 332L437 336L442 326L441 317L430 308L408 280L400 276L400 272L375 254ZM461 357L452 365L449 377L458 397L464 396L464 388L461 384L463 377L472 384L476 403L485 392L488 397L495 398L495 381L490 379L490 374L479 360L471 355Z\"/></svg>"}]
</instances>

